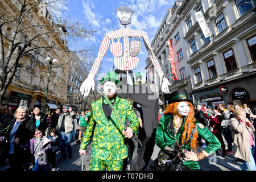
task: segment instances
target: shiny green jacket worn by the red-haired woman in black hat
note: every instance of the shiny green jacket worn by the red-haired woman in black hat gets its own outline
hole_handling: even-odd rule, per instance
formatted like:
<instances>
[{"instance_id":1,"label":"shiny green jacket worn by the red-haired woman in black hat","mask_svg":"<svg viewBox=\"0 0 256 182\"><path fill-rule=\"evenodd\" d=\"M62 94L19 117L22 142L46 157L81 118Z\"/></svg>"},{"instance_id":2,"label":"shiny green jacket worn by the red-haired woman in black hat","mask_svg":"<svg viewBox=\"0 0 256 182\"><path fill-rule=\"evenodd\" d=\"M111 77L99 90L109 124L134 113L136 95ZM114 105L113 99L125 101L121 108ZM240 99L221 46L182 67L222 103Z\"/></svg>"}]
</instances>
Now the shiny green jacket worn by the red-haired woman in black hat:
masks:
<instances>
[{"instance_id":1,"label":"shiny green jacket worn by the red-haired woman in black hat","mask_svg":"<svg viewBox=\"0 0 256 182\"><path fill-rule=\"evenodd\" d=\"M175 140L181 144L186 118L184 118L183 126L181 126L181 129L177 134L174 134L170 131L170 127L168 127L169 123L173 121L173 117L173 114L164 114L159 120L158 128L156 129L155 143L158 147L161 148L161 150L164 150L166 146L174 148L176 144ZM196 123L198 123L198 121L196 121ZM206 127L204 127L204 125L199 124L199 127L197 127L197 132L209 143L208 146L204 149L205 152L212 155L214 151L220 148L221 144L217 137L215 137ZM184 145L183 148L187 148L187 145ZM196 161L185 160L183 164L184 166L187 166L191 169L200 169L199 164Z\"/></svg>"}]
</instances>

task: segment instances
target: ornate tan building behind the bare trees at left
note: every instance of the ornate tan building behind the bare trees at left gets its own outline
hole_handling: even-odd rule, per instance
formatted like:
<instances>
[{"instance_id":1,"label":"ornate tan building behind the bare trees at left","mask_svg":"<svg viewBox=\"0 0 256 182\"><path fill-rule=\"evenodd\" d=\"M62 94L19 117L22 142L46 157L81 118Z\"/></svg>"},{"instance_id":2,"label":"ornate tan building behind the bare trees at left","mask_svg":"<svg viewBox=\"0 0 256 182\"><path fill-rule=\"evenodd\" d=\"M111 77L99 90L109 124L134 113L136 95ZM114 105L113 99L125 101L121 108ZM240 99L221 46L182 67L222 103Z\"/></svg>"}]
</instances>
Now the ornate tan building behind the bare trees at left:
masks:
<instances>
[{"instance_id":1,"label":"ornate tan building behind the bare trees at left","mask_svg":"<svg viewBox=\"0 0 256 182\"><path fill-rule=\"evenodd\" d=\"M36 1L30 1L30 3L36 3ZM29 8L27 6L27 10ZM6 17L10 17L11 13L18 14L20 3L15 0L1 1L1 10L13 10L9 12L10 14L6 14ZM57 63L52 65L48 82L46 113L50 113L67 101L68 76L65 73L68 72L69 53L65 39L65 28L61 24L55 23L47 10L43 16L38 11L26 13L21 26L27 27L28 31L23 32L26 40L31 40L40 34L35 42L31 42L31 47L38 48L29 51L19 60L15 77L3 96L2 104L15 108L26 106L28 109L34 105L39 105L43 111L49 71L45 59L51 57L51 59L56 59ZM5 50L9 47L10 37L14 29L15 24L12 24L11 21L6 23L2 29ZM18 39L23 38L17 37L16 39L18 41Z\"/></svg>"}]
</instances>

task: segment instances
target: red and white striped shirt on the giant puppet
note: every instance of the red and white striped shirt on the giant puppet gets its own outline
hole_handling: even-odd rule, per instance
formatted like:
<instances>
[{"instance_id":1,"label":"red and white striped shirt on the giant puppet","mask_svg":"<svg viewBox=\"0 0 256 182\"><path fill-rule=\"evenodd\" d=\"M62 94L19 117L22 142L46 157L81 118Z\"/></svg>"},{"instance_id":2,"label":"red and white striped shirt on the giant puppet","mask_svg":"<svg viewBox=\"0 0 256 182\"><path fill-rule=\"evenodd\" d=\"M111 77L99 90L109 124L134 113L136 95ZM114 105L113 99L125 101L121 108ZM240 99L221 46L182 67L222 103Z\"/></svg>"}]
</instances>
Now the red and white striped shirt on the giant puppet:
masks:
<instances>
[{"instance_id":1,"label":"red and white striped shirt on the giant puppet","mask_svg":"<svg viewBox=\"0 0 256 182\"><path fill-rule=\"evenodd\" d=\"M122 43L119 42L119 39L123 38L123 49ZM133 38L129 45L129 38ZM138 40L134 40L134 38L138 38ZM100 49L98 51L98 55L96 60L94 61L93 67L90 71L93 76L96 75L98 71L98 67L100 66L100 62L108 51L110 40L112 44L110 45L110 51L114 55L114 64L115 67L122 71L127 71L131 69L137 68L139 64L139 59L136 57L141 50L141 42L139 39L143 38L143 42L146 46L148 55L158 72L159 76L163 75L162 68L160 67L158 60L155 57L155 54L151 48L150 40L148 39L147 33L145 31L138 31L133 29L123 28L114 32L110 32L106 34L101 42ZM117 42L114 42L114 39L117 39ZM129 48L130 47L130 48Z\"/></svg>"}]
</instances>

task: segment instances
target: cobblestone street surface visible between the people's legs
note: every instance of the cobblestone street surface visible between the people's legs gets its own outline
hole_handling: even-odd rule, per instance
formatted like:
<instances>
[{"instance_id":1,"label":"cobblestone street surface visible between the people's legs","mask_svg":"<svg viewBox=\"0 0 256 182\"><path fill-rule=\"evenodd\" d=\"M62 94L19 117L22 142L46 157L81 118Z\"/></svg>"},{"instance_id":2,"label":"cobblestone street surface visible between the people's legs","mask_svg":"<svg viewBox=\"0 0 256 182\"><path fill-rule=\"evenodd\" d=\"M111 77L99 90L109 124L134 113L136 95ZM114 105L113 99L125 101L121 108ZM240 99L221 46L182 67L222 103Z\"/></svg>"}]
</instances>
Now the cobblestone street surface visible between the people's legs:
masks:
<instances>
[{"instance_id":1,"label":"cobblestone street surface visible between the people's legs","mask_svg":"<svg viewBox=\"0 0 256 182\"><path fill-rule=\"evenodd\" d=\"M202 139L202 142L204 143L203 139ZM71 143L71 146L72 146L72 150L73 150L73 157L71 159L67 158L66 160L57 162L57 160L60 158L60 152L57 152L57 154L56 154L56 171L81 171L82 156L79 154L80 144L77 144L76 141L73 140ZM92 146L92 143L90 142L88 145L88 148L87 148L87 154L84 156L84 170L85 171L89 170L91 146ZM158 156L159 150L160 150L160 148L155 145L154 152L151 156L150 163L148 163L148 165L146 167L146 171L152 171L152 169L150 168L150 164ZM203 148L198 149L199 152L201 150L203 150ZM219 152L219 154L222 154L221 148L218 149L218 152ZM236 158L234 158L233 154L227 154L226 158L222 158L221 155L212 155L212 156L208 156L208 158L206 158L206 159L201 160L199 162L199 166L200 166L201 171L241 171L242 163L236 162ZM32 166L31 166L31 168L32 168ZM129 162L128 162L127 168L130 169ZM5 171L8 169L9 169L9 165L0 167L0 171ZM49 171L49 170L51 170L51 166L47 165L44 168L44 171Z\"/></svg>"}]
</instances>

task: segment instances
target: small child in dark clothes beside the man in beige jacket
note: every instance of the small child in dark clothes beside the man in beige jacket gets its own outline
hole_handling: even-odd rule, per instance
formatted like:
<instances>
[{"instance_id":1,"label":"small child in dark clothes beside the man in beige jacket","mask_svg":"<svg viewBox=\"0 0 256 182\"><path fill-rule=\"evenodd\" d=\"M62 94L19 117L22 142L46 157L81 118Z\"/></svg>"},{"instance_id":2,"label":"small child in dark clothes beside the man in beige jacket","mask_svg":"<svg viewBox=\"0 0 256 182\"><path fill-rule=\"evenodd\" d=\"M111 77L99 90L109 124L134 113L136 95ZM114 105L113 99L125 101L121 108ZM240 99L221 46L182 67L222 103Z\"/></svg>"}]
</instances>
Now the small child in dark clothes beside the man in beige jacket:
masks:
<instances>
[{"instance_id":1,"label":"small child in dark clothes beside the man in beige jacket","mask_svg":"<svg viewBox=\"0 0 256 182\"><path fill-rule=\"evenodd\" d=\"M49 151L48 155L49 163L52 165L51 171L55 171L56 169L55 155L59 149L59 138L56 133L56 129L51 129L50 134L47 136L47 138L51 140L51 150Z\"/></svg>"}]
</instances>

